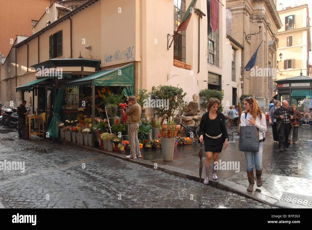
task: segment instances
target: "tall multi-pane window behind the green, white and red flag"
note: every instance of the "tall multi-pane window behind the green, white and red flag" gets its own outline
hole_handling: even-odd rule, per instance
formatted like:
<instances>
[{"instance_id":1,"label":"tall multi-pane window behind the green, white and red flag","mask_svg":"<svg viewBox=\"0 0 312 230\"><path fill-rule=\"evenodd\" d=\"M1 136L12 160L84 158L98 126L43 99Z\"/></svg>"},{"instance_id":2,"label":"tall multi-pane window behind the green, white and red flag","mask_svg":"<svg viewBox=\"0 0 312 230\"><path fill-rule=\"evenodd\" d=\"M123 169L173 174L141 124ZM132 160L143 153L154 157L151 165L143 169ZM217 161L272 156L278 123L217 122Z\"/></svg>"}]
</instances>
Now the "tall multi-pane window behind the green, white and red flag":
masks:
<instances>
[{"instance_id":1,"label":"tall multi-pane window behind the green, white and red flag","mask_svg":"<svg viewBox=\"0 0 312 230\"><path fill-rule=\"evenodd\" d=\"M182 22L185 14L185 0L174 0L173 2L173 34ZM186 53L185 31L179 31L173 41L173 59L185 63Z\"/></svg>"}]
</instances>

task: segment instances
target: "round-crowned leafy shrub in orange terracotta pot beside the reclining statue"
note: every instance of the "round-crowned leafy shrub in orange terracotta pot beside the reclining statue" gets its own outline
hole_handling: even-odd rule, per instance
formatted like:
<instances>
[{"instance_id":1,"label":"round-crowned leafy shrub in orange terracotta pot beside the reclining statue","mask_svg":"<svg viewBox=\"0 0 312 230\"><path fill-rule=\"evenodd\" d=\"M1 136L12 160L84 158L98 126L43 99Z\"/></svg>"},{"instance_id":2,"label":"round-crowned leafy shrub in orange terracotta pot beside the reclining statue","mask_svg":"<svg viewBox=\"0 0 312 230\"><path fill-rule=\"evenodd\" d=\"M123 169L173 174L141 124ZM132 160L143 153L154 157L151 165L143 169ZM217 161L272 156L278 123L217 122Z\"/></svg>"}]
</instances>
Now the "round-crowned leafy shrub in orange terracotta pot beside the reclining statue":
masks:
<instances>
[{"instance_id":1,"label":"round-crowned leafy shrub in orange terracotta pot beside the reclining statue","mask_svg":"<svg viewBox=\"0 0 312 230\"><path fill-rule=\"evenodd\" d=\"M174 116L181 111L185 106L187 106L187 102L184 100L184 97L187 93L183 93L183 89L179 87L174 87L171 85L159 85L158 87L153 86L152 88L152 98L158 99L160 101L163 100L163 106L155 108L156 115L158 117L162 117L162 132L167 130L167 132L171 132L167 129L167 126L163 124L164 121L169 123L169 120L173 120ZM180 125L175 125L175 134L173 137L177 136ZM164 134L164 133L163 133ZM168 134L171 136L170 134Z\"/></svg>"}]
</instances>

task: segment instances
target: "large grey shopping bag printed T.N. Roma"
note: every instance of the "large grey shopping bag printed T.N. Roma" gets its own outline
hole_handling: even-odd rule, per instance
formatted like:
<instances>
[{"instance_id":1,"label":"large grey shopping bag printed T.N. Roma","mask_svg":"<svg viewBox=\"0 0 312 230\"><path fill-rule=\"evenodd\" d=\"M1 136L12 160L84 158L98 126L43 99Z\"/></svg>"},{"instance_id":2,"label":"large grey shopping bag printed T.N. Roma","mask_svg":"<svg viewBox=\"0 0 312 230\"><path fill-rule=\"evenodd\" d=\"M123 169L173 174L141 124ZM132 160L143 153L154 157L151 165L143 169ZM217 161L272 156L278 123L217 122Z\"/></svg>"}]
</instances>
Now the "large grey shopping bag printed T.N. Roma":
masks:
<instances>
[{"instance_id":1,"label":"large grey shopping bag printed T.N. Roma","mask_svg":"<svg viewBox=\"0 0 312 230\"><path fill-rule=\"evenodd\" d=\"M255 126L241 126L239 150L245 152L259 151L259 129Z\"/></svg>"}]
</instances>

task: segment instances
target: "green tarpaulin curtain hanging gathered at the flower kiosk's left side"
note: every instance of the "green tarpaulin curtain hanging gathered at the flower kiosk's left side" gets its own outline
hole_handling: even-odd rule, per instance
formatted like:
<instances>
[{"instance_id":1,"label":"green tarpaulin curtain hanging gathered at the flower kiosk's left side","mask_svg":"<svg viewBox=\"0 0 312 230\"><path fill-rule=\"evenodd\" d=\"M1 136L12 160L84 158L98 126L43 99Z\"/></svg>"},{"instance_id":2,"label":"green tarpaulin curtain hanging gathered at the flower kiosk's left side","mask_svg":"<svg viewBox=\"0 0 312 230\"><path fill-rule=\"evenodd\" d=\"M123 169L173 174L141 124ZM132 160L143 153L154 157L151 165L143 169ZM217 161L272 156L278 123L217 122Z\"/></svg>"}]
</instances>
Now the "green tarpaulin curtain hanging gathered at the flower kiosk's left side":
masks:
<instances>
[{"instance_id":1,"label":"green tarpaulin curtain hanging gathered at the flower kiosk's left side","mask_svg":"<svg viewBox=\"0 0 312 230\"><path fill-rule=\"evenodd\" d=\"M61 121L60 112L63 100L64 89L58 89L56 98L54 101L54 113L50 123L50 126L47 130L49 132L50 137L59 138L59 127L58 124Z\"/></svg>"}]
</instances>

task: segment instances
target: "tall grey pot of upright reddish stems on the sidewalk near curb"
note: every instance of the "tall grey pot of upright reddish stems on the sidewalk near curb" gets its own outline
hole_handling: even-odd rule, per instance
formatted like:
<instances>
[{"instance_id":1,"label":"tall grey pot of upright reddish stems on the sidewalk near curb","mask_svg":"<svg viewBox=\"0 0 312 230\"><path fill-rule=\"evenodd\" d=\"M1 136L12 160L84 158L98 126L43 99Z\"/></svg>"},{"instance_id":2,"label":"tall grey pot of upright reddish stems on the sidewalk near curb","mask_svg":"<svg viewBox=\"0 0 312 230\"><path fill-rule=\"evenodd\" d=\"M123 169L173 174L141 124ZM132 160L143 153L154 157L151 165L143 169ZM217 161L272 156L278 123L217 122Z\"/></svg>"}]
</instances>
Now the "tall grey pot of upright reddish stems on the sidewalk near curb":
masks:
<instances>
[{"instance_id":1,"label":"tall grey pot of upright reddish stems on the sidewalk near curb","mask_svg":"<svg viewBox=\"0 0 312 230\"><path fill-rule=\"evenodd\" d=\"M163 132L163 128L158 126L161 138L160 142L162 145L163 161L172 161L174 152L174 130L176 129L176 124L174 121L168 120L167 128Z\"/></svg>"}]
</instances>

